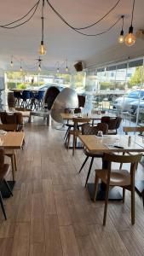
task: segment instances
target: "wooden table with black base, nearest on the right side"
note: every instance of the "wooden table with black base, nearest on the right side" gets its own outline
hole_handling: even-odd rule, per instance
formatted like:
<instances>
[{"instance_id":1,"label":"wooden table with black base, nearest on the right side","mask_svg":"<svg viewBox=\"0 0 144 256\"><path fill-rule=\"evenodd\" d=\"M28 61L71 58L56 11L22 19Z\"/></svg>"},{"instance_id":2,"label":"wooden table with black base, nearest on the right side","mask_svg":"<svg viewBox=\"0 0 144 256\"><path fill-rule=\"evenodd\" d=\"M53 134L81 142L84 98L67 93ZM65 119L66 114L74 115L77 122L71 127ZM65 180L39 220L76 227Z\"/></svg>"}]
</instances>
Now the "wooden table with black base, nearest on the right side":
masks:
<instances>
[{"instance_id":1,"label":"wooden table with black base, nearest on the right side","mask_svg":"<svg viewBox=\"0 0 144 256\"><path fill-rule=\"evenodd\" d=\"M141 146L140 138L132 136L132 142L130 147L128 147L128 135L106 135L104 137L96 137L95 135L79 135L79 139L84 143L84 147L89 150L89 153L119 153L119 152L144 152L144 145ZM113 147L114 143L118 143L119 146L124 148L115 148ZM106 167L106 163L102 163L103 167ZM94 196L94 183L88 183L88 190L90 198L93 200ZM97 195L98 200L105 199L105 186L101 183L99 186L99 191ZM110 200L122 200L122 196L117 189L113 188L109 193Z\"/></svg>"}]
</instances>

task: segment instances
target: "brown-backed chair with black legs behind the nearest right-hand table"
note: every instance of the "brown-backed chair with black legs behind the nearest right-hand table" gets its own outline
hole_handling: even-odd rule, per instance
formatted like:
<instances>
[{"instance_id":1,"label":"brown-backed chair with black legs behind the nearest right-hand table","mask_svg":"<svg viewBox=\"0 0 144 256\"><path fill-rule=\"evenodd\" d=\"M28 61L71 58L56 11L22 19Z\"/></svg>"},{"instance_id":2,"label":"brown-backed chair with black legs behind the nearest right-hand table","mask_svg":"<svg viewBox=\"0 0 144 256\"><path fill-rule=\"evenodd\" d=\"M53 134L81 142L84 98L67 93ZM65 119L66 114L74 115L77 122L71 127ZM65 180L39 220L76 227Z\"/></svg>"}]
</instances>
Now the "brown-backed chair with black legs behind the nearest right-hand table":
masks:
<instances>
[{"instance_id":1,"label":"brown-backed chair with black legs behind the nearest right-hand table","mask_svg":"<svg viewBox=\"0 0 144 256\"><path fill-rule=\"evenodd\" d=\"M97 126L90 126L89 124L82 125L82 134L84 134L84 135L96 135L98 131L102 131L103 134L107 134L108 125L107 124L102 124L102 123L97 124ZM95 158L102 158L103 153L92 154L92 153L89 153L89 151L86 148L84 148L84 154L86 155L86 158L84 160L83 165L81 166L81 168L79 170L79 173L84 168L84 166L85 166L87 160L89 159L89 157L91 157L91 161L90 161L90 165L89 165L89 171L88 171L86 181L85 181L85 187L86 187L86 185L88 183L88 180L89 180L89 175L90 175L90 172L91 172L91 168L93 166L93 161L94 161Z\"/></svg>"}]
</instances>

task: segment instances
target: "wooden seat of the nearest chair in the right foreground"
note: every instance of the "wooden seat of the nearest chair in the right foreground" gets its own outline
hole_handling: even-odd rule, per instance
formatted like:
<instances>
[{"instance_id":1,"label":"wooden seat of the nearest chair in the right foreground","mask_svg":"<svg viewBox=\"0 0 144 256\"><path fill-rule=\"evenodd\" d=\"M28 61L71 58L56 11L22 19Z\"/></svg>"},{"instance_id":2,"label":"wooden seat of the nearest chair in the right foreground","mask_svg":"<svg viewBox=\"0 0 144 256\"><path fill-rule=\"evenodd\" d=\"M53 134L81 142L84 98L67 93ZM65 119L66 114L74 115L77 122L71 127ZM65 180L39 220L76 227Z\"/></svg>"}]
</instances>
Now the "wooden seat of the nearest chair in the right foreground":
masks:
<instances>
[{"instance_id":1,"label":"wooden seat of the nearest chair in the right foreground","mask_svg":"<svg viewBox=\"0 0 144 256\"><path fill-rule=\"evenodd\" d=\"M107 170L95 170L95 174L101 178L103 183L107 183ZM127 170L112 170L110 177L110 186L129 186L130 172Z\"/></svg>"}]
</instances>

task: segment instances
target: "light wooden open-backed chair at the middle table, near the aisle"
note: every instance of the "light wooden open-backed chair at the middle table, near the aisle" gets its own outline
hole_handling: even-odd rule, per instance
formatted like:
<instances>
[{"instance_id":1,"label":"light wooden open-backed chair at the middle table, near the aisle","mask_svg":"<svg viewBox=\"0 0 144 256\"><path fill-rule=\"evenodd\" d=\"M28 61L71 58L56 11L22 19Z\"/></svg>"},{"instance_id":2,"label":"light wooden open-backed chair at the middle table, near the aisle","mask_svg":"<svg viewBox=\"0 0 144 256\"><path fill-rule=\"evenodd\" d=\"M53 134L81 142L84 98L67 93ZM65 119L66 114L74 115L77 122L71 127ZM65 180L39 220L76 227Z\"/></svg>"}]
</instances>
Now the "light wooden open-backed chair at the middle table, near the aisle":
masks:
<instances>
[{"instance_id":1,"label":"light wooden open-backed chair at the middle table, near the aisle","mask_svg":"<svg viewBox=\"0 0 144 256\"><path fill-rule=\"evenodd\" d=\"M81 134L81 131L79 131L77 129L78 122L79 123L89 123L90 118L73 118L72 121L73 121L73 124L74 124L74 128L73 128L73 130L70 130L68 132L67 149L69 149L70 138L71 138L71 135L72 135L73 136L72 155L74 155L74 151L75 151L75 147L76 147L76 143L77 143L77 137L78 137L79 134Z\"/></svg>"}]
</instances>

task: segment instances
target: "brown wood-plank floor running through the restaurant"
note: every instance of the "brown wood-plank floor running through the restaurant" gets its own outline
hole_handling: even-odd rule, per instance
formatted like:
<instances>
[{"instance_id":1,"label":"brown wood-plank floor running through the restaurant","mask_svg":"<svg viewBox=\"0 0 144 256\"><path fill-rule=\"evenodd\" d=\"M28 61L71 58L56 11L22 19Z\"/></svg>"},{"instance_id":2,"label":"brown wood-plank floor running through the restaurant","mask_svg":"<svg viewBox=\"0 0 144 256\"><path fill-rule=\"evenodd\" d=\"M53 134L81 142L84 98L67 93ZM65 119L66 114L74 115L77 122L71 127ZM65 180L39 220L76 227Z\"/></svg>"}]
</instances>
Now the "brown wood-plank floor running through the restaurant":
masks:
<instances>
[{"instance_id":1,"label":"brown wood-plank floor running through the restaurant","mask_svg":"<svg viewBox=\"0 0 144 256\"><path fill-rule=\"evenodd\" d=\"M64 133L40 123L26 125L14 196L4 201L7 221L0 209L0 256L144 255L142 201L136 196L134 226L129 192L124 205L110 202L103 227L103 202L90 201L84 189L89 163L79 175L83 150L72 157L64 148Z\"/></svg>"}]
</instances>

